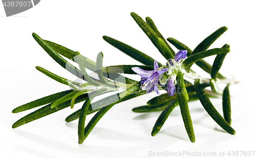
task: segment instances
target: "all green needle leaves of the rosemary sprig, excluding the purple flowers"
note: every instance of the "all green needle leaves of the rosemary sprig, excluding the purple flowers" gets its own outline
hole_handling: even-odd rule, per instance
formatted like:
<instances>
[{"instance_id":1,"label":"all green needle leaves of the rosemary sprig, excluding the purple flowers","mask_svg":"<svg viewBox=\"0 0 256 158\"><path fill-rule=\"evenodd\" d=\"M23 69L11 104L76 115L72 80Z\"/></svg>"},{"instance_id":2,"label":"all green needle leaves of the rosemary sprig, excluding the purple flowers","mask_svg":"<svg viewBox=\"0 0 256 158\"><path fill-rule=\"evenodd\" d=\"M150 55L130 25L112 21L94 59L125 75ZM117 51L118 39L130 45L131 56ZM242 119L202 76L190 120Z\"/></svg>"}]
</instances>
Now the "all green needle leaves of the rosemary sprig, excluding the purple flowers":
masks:
<instances>
[{"instance_id":1,"label":"all green needle leaves of the rosemary sprig, excluding the purple flowers","mask_svg":"<svg viewBox=\"0 0 256 158\"><path fill-rule=\"evenodd\" d=\"M216 90L216 82L218 80L225 80L225 77L219 73L223 60L229 50L229 45L225 44L221 48L208 49L208 47L218 39L226 30L226 27L222 27L204 39L193 51L189 49L186 45L182 44L178 40L174 38L165 38L160 34L156 25L150 17L146 17L146 21L144 21L141 17L139 17L135 13L131 13L131 16L134 18L139 27L143 30L143 32L147 35L147 37L152 41L152 43L156 46L159 52L165 57L166 60L173 59L175 56L175 51L169 46L167 41L174 45L176 48L180 50L187 50L187 58L184 60L182 66L186 70L187 73L191 72L191 65L194 63L197 64L204 71L208 72L211 76L209 83L200 83L200 79L196 78L194 85L184 80L181 71L178 72L176 85L176 93L173 96L169 96L167 93L154 97L147 101L146 106L134 108L134 112L153 112L153 111L162 111L159 118L157 119L153 130L152 136L155 136L164 122L168 118L169 114L174 110L175 107L179 105L181 110L181 115L184 121L185 129L187 131L188 137L191 142L195 142L195 134L193 129L193 124L190 118L189 109L188 109L188 101L200 100L203 105L203 108L209 114L209 116L216 121L225 131L229 134L234 135L235 131L230 126L231 124L231 116L230 116L230 97L229 90L227 84L226 88L222 93L223 95L223 114L224 118L221 114L215 109L212 103L209 100L209 97L216 97L215 95L211 95L210 93L206 93L207 90L204 90L205 87L211 87L212 92L219 93ZM39 106L46 106L26 115L25 117L16 121L12 127L16 128L20 125L26 124L28 122L34 121L41 117L50 115L59 110L62 110L67 107L74 107L74 104L84 101L83 106L80 110L72 113L70 116L66 118L67 122L73 121L75 119L79 119L78 121L78 143L81 144L88 137L94 126L97 122L103 117L103 115L108 112L115 104L135 98L140 95L146 94L145 90L141 90L140 82L131 80L130 78L123 77L124 80L119 81L118 78L120 73L127 74L136 74L132 71L132 67L140 67L144 70L153 70L154 59L145 55L143 52L126 45L118 40L115 40L108 36L103 36L103 39L118 48L126 55L134 58L135 60L141 62L144 65L116 65L116 66L102 66L103 54L99 53L97 57L97 62L93 62L90 59L83 57L79 54L79 52L75 52L66 47L58 45L54 42L47 41L41 39L35 33L32 34L36 42L44 48L44 50L63 68L67 69L69 72L74 74L75 76L81 78L84 81L87 81L85 84L76 83L66 78L60 77L44 68L39 66L36 69L47 76L51 77L53 80L71 86L72 90L62 91L56 94L52 94L32 102L26 103L23 106L15 108L12 113L18 113L26 110L30 110L32 108L36 108ZM208 50L207 50L208 49ZM61 56L60 56L61 55ZM212 66L208 64L203 58L217 55ZM79 68L73 66L67 60L62 58L62 56L77 62L79 64ZM77 57L79 56L79 57ZM162 66L160 62L158 62L159 66ZM86 73L86 69L97 72L99 79L97 80ZM107 79L107 80L106 80ZM115 82L111 82L115 81ZM113 83L115 86L113 87ZM119 85L118 85L119 84ZM105 85L105 88L99 88L97 90L90 89L90 86L100 87L101 85ZM91 103L92 99L96 96L99 96L104 93L113 92L118 89L117 87L121 87L122 85L127 86L128 88L120 93L113 94L111 96L102 98L96 102ZM87 88L89 87L89 88ZM112 87L108 89L108 87ZM162 89L165 90L165 86ZM114 89L114 90L113 90ZM92 92L90 92L92 91ZM89 93L90 92L90 93ZM90 98L90 99L89 99ZM92 108L93 107L93 108ZM86 120L86 116L97 112L94 117L90 120L90 122L85 126L84 122Z\"/></svg>"}]
</instances>

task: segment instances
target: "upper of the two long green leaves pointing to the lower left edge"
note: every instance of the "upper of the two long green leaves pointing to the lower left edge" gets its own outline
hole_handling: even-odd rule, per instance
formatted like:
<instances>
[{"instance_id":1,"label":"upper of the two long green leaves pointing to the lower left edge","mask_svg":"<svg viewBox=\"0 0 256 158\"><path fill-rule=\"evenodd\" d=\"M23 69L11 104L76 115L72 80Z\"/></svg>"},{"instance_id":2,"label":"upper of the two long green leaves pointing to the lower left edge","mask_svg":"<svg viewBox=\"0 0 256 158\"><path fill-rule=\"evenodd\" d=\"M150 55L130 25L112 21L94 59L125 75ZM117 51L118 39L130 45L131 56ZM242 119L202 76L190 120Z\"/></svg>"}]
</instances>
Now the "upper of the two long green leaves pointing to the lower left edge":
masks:
<instances>
[{"instance_id":1,"label":"upper of the two long green leaves pointing to the lower left edge","mask_svg":"<svg viewBox=\"0 0 256 158\"><path fill-rule=\"evenodd\" d=\"M54 101L58 100L59 98L65 96L65 95L67 95L71 92L73 92L73 90L62 91L62 92L55 93L55 94L52 94L52 95L49 95L49 96L46 96L46 97L42 97L40 99L31 101L29 103L26 103L22 106L19 106L19 107L13 109L12 113L19 113L19 112L30 110L30 109L33 109L33 108L36 108L36 107L39 107L39 106L43 106L45 104L54 102Z\"/></svg>"}]
</instances>

